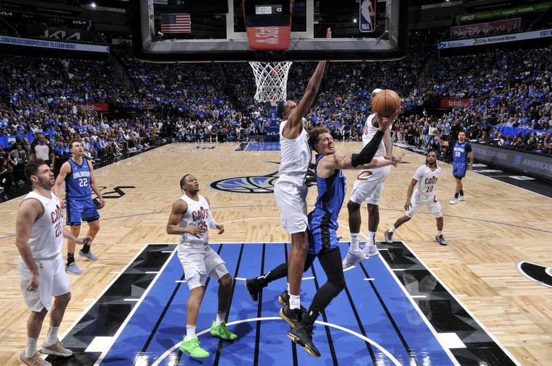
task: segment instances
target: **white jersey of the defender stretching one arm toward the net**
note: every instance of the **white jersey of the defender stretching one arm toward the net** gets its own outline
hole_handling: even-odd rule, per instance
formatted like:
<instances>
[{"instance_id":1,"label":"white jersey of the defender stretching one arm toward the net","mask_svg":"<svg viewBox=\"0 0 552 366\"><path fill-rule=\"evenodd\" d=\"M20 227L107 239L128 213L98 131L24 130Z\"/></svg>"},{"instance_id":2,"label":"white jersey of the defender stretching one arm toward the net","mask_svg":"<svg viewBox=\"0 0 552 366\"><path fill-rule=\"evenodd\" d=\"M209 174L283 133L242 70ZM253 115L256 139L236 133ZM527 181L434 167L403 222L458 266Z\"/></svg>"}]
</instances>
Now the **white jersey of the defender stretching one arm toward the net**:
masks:
<instances>
[{"instance_id":1,"label":"white jersey of the defender stretching one arm toward the net","mask_svg":"<svg viewBox=\"0 0 552 366\"><path fill-rule=\"evenodd\" d=\"M288 176L294 181L303 182L312 156L311 148L308 146L308 133L303 128L297 139L286 139L282 133L286 122L280 123L280 152L282 153L282 162L279 167L279 176L281 178Z\"/></svg>"}]
</instances>

